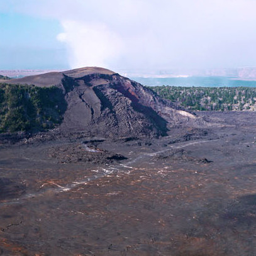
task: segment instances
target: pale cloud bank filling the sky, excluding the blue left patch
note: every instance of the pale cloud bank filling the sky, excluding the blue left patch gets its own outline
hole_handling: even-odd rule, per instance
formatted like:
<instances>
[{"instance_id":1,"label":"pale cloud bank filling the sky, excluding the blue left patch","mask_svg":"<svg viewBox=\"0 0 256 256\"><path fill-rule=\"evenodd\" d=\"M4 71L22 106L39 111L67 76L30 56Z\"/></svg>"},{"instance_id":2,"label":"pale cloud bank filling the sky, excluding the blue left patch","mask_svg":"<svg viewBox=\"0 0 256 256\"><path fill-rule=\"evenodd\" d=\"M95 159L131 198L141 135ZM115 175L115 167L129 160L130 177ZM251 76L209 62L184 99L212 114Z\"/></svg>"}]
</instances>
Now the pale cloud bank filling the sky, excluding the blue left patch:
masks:
<instances>
[{"instance_id":1,"label":"pale cloud bank filling the sky, excluding the blue left patch","mask_svg":"<svg viewBox=\"0 0 256 256\"><path fill-rule=\"evenodd\" d=\"M12 0L58 19L70 65L110 69L256 65L255 0ZM21 3L22 2L22 3Z\"/></svg>"}]
</instances>

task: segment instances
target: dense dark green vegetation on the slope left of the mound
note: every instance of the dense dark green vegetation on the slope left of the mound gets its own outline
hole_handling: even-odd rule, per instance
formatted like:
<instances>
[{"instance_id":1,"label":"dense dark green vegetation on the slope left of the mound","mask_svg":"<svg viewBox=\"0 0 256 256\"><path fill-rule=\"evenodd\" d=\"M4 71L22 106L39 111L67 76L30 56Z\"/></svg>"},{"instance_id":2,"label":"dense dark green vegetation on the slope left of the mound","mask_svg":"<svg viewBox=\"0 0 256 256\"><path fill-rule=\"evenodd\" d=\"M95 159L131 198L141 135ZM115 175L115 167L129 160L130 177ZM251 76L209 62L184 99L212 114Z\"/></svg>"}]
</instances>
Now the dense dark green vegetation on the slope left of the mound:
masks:
<instances>
[{"instance_id":1,"label":"dense dark green vegetation on the slope left of the mound","mask_svg":"<svg viewBox=\"0 0 256 256\"><path fill-rule=\"evenodd\" d=\"M0 84L0 132L43 131L62 120L66 103L57 87Z\"/></svg>"}]
</instances>

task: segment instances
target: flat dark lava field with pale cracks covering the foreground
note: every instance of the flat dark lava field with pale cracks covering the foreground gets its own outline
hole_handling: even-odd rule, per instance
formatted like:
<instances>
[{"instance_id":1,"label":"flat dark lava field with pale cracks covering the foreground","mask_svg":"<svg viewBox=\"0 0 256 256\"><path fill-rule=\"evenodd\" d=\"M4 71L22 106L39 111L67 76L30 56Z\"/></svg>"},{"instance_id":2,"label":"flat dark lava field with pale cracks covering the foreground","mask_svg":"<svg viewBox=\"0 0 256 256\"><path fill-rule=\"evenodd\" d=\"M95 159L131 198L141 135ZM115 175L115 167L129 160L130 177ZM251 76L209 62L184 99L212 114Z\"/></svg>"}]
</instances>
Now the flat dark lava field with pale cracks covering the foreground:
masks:
<instances>
[{"instance_id":1,"label":"flat dark lava field with pale cracks covering the foreground","mask_svg":"<svg viewBox=\"0 0 256 256\"><path fill-rule=\"evenodd\" d=\"M0 146L0 255L256 255L256 113L162 138Z\"/></svg>"}]
</instances>

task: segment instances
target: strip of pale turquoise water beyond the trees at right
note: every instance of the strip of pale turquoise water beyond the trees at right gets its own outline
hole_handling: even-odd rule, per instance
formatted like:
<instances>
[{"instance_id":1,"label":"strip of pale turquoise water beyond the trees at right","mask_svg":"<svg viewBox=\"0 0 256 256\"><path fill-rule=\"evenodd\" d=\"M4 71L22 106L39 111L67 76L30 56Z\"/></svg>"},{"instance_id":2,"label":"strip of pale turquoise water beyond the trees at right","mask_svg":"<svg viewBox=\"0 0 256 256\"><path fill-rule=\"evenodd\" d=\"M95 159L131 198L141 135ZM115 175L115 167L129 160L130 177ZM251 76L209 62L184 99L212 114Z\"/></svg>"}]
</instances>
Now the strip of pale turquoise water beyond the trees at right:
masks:
<instances>
[{"instance_id":1,"label":"strip of pale turquoise water beyond the trees at right","mask_svg":"<svg viewBox=\"0 0 256 256\"><path fill-rule=\"evenodd\" d=\"M256 81L235 80L230 77L130 77L143 86L186 87L256 87Z\"/></svg>"}]
</instances>

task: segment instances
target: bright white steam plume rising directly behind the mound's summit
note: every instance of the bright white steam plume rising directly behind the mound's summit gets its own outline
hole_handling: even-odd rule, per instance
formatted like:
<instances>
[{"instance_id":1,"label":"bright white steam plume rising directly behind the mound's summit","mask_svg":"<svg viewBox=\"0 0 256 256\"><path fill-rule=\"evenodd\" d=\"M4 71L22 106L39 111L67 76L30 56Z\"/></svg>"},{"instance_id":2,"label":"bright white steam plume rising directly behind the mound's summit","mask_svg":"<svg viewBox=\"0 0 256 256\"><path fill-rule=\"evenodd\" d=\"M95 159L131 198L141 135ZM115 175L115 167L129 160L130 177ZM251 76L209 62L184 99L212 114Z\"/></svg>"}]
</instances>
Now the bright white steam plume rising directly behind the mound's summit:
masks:
<instances>
[{"instance_id":1,"label":"bright white steam plume rising directly behind the mound's summit","mask_svg":"<svg viewBox=\"0 0 256 256\"><path fill-rule=\"evenodd\" d=\"M108 67L121 53L122 43L118 35L103 23L62 21L65 33L58 40L70 48L69 60L72 68L84 66Z\"/></svg>"}]
</instances>

